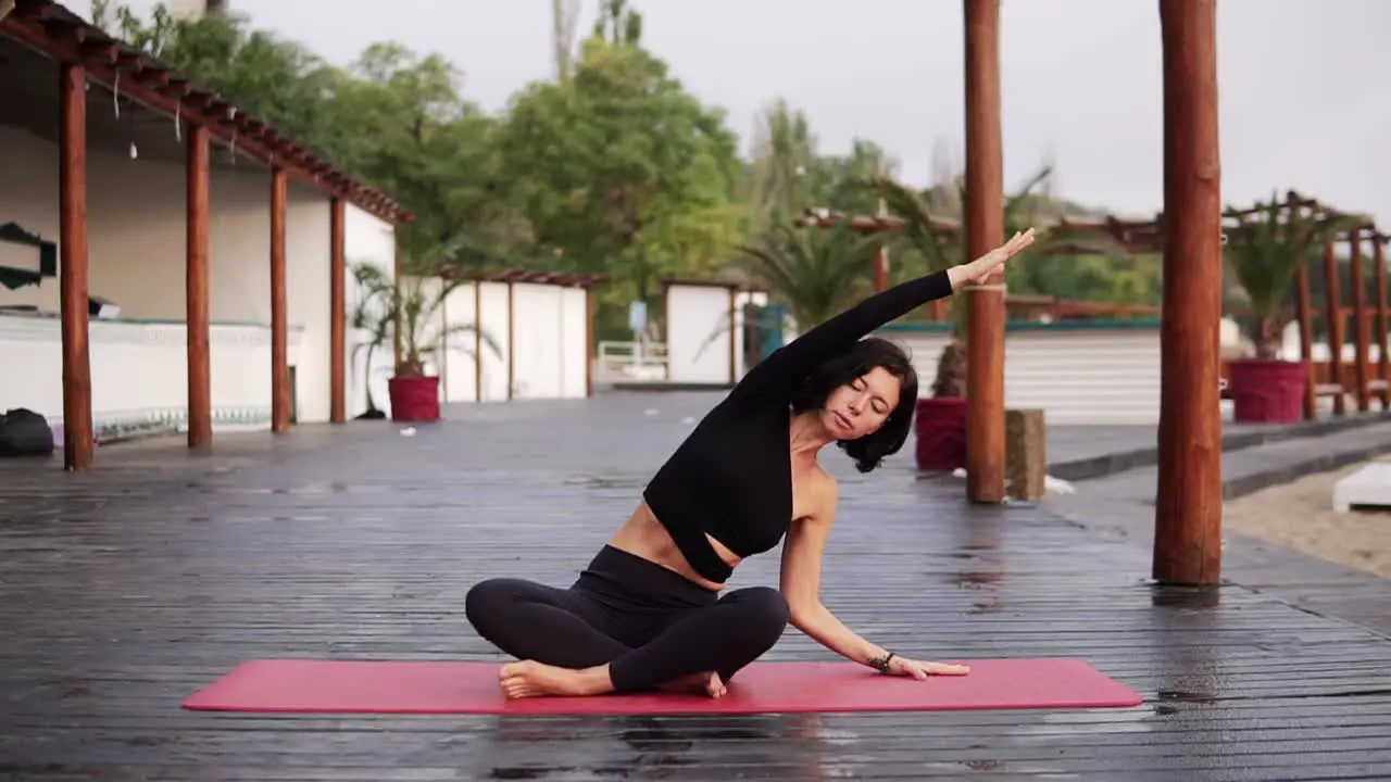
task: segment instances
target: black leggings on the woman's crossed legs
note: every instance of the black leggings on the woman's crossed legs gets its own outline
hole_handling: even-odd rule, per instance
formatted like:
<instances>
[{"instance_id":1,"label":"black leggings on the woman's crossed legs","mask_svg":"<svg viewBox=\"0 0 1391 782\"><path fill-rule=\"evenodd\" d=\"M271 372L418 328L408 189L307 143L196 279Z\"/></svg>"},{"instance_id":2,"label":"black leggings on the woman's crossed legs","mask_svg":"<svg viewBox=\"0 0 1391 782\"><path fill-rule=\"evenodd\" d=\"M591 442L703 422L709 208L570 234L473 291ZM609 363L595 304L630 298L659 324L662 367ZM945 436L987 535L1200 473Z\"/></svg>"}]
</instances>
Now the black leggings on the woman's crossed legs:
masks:
<instances>
[{"instance_id":1,"label":"black leggings on the woman's crossed legs","mask_svg":"<svg viewBox=\"0 0 1391 782\"><path fill-rule=\"evenodd\" d=\"M778 590L711 591L680 573L605 545L570 589L523 579L474 584L465 612L480 636L519 660L561 668L609 664L616 692L691 673L734 672L787 626Z\"/></svg>"}]
</instances>

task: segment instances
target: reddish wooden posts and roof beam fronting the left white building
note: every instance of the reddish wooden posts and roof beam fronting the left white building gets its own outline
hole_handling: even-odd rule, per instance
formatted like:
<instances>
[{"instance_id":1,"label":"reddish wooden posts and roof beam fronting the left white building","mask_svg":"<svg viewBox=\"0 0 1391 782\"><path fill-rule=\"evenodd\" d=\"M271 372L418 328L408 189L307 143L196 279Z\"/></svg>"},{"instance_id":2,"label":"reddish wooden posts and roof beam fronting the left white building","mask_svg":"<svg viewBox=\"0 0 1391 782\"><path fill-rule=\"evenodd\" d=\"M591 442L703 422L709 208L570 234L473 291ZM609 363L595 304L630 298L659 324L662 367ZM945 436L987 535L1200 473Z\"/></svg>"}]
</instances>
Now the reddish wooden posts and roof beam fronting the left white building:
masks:
<instances>
[{"instance_id":1,"label":"reddish wooden posts and roof beam fronting the left white building","mask_svg":"<svg viewBox=\"0 0 1391 782\"><path fill-rule=\"evenodd\" d=\"M3 4L0 4L3 7ZM186 301L188 444L211 442L209 377L209 179L210 145L270 167L271 430L291 422L287 348L285 207L288 179L330 199L330 420L346 420L345 366L345 206L391 224L413 216L385 193L334 168L312 149L246 114L210 89L143 51L117 40L51 0L17 0L0 17L0 36L19 42L60 65L60 264L63 327L64 468L92 466L92 377L88 351L88 85L100 85L186 127Z\"/></svg>"}]
</instances>

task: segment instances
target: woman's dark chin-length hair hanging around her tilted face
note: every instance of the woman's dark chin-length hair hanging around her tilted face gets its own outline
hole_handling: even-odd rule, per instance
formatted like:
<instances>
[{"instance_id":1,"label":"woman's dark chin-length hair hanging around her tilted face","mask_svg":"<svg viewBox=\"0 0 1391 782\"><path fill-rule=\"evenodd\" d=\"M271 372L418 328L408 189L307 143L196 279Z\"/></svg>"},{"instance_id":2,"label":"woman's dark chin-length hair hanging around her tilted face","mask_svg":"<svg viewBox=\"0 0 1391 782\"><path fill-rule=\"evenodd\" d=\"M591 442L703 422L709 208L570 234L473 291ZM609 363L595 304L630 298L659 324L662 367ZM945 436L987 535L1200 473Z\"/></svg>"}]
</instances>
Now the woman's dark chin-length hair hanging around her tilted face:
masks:
<instances>
[{"instance_id":1,"label":"woman's dark chin-length hair hanging around her tilted face","mask_svg":"<svg viewBox=\"0 0 1391 782\"><path fill-rule=\"evenodd\" d=\"M839 356L822 362L791 398L793 412L821 409L832 391L881 366L899 378L899 405L889 412L878 431L837 442L862 473L878 468L885 456L897 454L908 440L918 399L918 372L912 367L908 352L889 340L867 337Z\"/></svg>"}]
</instances>

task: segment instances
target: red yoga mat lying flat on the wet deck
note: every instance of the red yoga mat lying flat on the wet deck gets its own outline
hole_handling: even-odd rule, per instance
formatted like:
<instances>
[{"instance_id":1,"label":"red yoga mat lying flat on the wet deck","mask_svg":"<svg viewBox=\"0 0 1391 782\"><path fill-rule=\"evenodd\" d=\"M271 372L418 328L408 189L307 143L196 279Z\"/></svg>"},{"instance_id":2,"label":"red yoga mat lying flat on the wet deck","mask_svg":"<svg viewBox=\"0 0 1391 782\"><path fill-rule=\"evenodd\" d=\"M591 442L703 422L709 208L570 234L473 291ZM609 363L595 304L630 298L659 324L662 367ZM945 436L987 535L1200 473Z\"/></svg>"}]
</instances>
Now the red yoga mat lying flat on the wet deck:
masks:
<instances>
[{"instance_id":1,"label":"red yoga mat lying flat on the wet deck","mask_svg":"<svg viewBox=\"0 0 1391 782\"><path fill-rule=\"evenodd\" d=\"M772 714L1138 705L1081 660L971 660L965 676L881 676L853 662L755 662L721 699L605 694L506 700L498 662L257 660L184 701L189 710L356 714Z\"/></svg>"}]
</instances>

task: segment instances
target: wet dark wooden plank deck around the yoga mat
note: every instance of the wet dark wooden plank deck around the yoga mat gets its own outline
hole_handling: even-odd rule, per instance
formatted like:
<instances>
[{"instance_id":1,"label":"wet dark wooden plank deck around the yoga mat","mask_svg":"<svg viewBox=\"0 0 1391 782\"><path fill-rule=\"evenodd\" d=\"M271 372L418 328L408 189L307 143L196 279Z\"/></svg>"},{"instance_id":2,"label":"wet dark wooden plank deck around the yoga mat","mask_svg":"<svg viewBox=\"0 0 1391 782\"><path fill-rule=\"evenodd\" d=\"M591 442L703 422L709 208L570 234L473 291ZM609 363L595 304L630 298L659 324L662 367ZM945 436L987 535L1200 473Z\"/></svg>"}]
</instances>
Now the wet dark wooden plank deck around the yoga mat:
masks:
<instances>
[{"instance_id":1,"label":"wet dark wooden plank deck around the yoga mat","mask_svg":"<svg viewBox=\"0 0 1391 782\"><path fill-rule=\"evenodd\" d=\"M1156 590L1148 552L970 508L911 456L844 476L825 573L851 628L925 658L1075 655L1131 710L680 718L189 712L257 657L494 660L477 579L568 583L700 398L451 410L0 465L0 779L1385 779L1391 640L1242 586ZM775 583L755 558L733 586ZM829 658L790 630L773 658Z\"/></svg>"}]
</instances>

